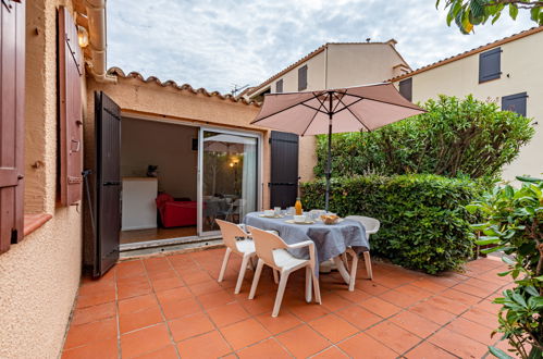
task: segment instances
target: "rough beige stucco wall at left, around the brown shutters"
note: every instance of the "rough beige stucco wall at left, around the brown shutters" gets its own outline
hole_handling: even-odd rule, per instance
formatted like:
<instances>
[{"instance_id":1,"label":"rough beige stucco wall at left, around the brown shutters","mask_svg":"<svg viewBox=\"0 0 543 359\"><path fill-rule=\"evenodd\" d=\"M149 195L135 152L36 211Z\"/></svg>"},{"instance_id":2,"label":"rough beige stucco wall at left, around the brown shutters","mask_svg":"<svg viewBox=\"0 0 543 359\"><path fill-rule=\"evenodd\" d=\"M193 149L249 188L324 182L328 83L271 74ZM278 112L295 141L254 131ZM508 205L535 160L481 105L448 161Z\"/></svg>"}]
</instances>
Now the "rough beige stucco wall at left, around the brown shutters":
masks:
<instances>
[{"instance_id":1,"label":"rough beige stucco wall at left, around the brown shutters","mask_svg":"<svg viewBox=\"0 0 543 359\"><path fill-rule=\"evenodd\" d=\"M25 2L25 213L52 219L0 255L0 358L58 358L82 251L81 209L57 207L55 10L70 2Z\"/></svg>"}]
</instances>

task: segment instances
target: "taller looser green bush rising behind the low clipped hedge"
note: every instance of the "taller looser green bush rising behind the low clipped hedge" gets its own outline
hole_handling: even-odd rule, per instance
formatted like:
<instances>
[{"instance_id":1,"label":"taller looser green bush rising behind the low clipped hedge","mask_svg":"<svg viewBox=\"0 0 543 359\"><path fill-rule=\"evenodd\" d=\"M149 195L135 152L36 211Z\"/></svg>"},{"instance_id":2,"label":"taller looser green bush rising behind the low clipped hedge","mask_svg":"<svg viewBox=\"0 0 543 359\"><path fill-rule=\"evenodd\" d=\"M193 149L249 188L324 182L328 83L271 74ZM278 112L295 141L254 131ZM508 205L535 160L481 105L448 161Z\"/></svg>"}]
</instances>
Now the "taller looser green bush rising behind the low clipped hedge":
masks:
<instances>
[{"instance_id":1,"label":"taller looser green bush rising behind the low clipped hedge","mask_svg":"<svg viewBox=\"0 0 543 359\"><path fill-rule=\"evenodd\" d=\"M495 103L441 96L428 113L371 133L332 136L332 175L432 173L495 177L533 136L530 120ZM326 136L318 139L317 175L324 175Z\"/></svg>"}]
</instances>

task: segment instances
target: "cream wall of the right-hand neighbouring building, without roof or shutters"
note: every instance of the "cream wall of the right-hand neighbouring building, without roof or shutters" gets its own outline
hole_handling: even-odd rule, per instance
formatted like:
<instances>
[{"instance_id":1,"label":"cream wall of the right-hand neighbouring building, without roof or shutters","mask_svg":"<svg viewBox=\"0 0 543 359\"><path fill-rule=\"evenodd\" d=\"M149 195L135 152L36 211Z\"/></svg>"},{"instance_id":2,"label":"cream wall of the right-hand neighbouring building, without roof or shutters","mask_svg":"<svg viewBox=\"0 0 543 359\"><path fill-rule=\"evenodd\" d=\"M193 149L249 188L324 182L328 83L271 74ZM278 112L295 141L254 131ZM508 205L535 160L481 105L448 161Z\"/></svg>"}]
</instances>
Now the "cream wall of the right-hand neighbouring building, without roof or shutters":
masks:
<instances>
[{"instance_id":1,"label":"cream wall of the right-hand neighbouring building, without roof or shutters","mask_svg":"<svg viewBox=\"0 0 543 359\"><path fill-rule=\"evenodd\" d=\"M504 169L503 178L509 181L523 174L541 177L543 63L539 59L543 57L542 45L543 32L502 45L502 76L482 84L479 84L479 53L416 74L412 76L412 101L424 102L441 94L457 97L473 94L480 100L496 101L502 106L503 96L528 92L527 116L539 122L533 125L535 136L521 149L520 156Z\"/></svg>"}]
</instances>

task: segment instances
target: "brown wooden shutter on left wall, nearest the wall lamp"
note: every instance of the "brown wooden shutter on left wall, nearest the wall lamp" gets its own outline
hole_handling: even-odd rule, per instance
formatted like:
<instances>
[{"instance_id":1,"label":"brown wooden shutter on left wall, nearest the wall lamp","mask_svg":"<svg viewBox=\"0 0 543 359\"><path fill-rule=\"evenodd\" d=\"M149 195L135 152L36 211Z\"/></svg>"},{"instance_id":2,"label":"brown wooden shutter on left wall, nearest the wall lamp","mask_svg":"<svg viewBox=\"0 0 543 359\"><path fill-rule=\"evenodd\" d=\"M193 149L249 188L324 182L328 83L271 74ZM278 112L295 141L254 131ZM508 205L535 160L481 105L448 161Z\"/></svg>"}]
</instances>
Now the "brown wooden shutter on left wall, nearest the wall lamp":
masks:
<instances>
[{"instance_id":1,"label":"brown wooden shutter on left wall, nearest the wall lamp","mask_svg":"<svg viewBox=\"0 0 543 359\"><path fill-rule=\"evenodd\" d=\"M82 199L83 61L77 27L66 8L59 9L60 199L70 206Z\"/></svg>"}]
</instances>

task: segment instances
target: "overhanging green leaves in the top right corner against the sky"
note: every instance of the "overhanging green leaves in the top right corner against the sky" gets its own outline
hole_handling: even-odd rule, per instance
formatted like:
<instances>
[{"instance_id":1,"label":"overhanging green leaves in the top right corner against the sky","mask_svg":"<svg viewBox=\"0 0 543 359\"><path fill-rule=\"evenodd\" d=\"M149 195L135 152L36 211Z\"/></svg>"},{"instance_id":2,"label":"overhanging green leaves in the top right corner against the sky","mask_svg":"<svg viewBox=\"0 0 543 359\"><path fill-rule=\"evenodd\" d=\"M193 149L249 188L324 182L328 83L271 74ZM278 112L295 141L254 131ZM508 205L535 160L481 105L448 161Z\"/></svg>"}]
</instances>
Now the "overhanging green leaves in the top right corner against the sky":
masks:
<instances>
[{"instance_id":1,"label":"overhanging green leaves in the top right corner against the sky","mask_svg":"<svg viewBox=\"0 0 543 359\"><path fill-rule=\"evenodd\" d=\"M437 8L442 1L436 0ZM469 34L473 27L492 20L494 24L505 8L509 16L517 20L519 9L530 10L530 17L539 25L543 25L543 2L540 0L444 0L448 9L447 25L453 21L462 34Z\"/></svg>"}]
</instances>

